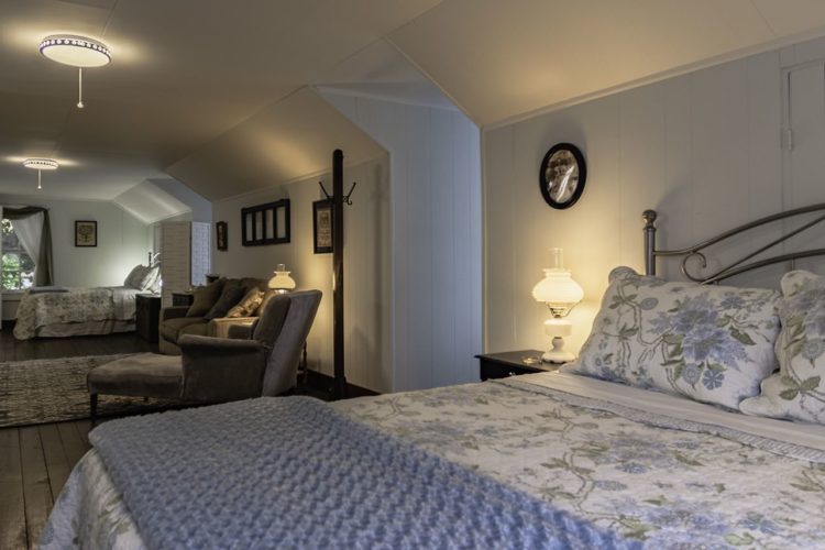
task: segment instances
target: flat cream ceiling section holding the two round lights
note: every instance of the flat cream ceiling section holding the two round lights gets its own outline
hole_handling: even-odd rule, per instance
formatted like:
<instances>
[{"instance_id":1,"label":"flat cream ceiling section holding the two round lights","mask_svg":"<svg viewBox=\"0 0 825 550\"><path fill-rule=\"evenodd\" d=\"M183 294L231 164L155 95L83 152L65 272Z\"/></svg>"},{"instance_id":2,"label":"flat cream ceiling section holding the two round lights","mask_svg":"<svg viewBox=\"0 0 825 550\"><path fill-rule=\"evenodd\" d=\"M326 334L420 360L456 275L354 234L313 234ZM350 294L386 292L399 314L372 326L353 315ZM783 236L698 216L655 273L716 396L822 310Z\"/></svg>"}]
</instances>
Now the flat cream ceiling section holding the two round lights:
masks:
<instances>
[{"instance_id":1,"label":"flat cream ceiling section holding the two round lights","mask_svg":"<svg viewBox=\"0 0 825 550\"><path fill-rule=\"evenodd\" d=\"M66 169L43 195L113 199L437 3L0 0L0 193L34 193L20 162L46 156ZM86 109L76 70L37 52L55 33L112 51Z\"/></svg>"}]
</instances>

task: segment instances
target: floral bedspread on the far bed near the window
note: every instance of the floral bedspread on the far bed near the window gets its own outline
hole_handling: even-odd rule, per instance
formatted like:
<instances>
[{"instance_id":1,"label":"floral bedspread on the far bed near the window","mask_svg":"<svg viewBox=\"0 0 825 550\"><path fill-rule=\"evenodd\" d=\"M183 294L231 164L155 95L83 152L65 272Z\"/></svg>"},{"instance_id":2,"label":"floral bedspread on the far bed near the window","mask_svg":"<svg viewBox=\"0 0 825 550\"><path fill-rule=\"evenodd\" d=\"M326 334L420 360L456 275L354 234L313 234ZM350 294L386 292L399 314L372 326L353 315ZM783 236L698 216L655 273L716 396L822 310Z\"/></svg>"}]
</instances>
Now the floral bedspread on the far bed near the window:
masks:
<instances>
[{"instance_id":1,"label":"floral bedspread on the far bed near the window","mask_svg":"<svg viewBox=\"0 0 825 550\"><path fill-rule=\"evenodd\" d=\"M134 318L134 295L127 287L69 288L67 293L25 293L18 306L14 338L28 340L40 327L54 323L130 320Z\"/></svg>"}]
</instances>

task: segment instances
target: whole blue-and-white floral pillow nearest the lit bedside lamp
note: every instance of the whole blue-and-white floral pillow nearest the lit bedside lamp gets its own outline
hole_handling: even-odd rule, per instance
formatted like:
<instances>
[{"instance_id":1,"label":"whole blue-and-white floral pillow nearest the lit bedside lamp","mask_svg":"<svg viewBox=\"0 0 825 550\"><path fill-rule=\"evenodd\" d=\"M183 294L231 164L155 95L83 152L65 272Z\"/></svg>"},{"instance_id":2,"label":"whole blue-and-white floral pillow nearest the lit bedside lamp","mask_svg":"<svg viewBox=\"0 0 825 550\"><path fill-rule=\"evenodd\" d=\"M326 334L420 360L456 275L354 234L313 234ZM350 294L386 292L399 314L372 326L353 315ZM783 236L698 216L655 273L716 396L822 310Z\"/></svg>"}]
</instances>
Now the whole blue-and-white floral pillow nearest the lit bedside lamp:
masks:
<instances>
[{"instance_id":1,"label":"whole blue-and-white floral pillow nearest the lit bedside lamp","mask_svg":"<svg viewBox=\"0 0 825 550\"><path fill-rule=\"evenodd\" d=\"M738 408L777 367L774 290L667 283L629 267L610 284L563 371Z\"/></svg>"}]
</instances>

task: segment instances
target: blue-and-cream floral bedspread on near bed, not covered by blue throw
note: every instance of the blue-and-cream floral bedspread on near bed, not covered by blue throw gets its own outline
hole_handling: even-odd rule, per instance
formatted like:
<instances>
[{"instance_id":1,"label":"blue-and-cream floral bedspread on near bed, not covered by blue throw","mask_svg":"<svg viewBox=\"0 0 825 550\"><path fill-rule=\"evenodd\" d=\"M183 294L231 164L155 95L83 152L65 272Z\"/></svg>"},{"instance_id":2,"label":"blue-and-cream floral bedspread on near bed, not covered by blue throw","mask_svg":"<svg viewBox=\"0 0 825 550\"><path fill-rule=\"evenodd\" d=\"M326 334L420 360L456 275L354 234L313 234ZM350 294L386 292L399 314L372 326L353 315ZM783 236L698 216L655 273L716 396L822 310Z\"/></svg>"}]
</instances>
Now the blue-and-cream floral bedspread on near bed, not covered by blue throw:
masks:
<instances>
[{"instance_id":1,"label":"blue-and-cream floral bedspread on near bed, not covered by blue throw","mask_svg":"<svg viewBox=\"0 0 825 550\"><path fill-rule=\"evenodd\" d=\"M647 548L825 541L825 465L710 433L656 428L499 383L334 407ZM54 548L70 540L142 548L95 451L69 477L50 529Z\"/></svg>"}]
</instances>

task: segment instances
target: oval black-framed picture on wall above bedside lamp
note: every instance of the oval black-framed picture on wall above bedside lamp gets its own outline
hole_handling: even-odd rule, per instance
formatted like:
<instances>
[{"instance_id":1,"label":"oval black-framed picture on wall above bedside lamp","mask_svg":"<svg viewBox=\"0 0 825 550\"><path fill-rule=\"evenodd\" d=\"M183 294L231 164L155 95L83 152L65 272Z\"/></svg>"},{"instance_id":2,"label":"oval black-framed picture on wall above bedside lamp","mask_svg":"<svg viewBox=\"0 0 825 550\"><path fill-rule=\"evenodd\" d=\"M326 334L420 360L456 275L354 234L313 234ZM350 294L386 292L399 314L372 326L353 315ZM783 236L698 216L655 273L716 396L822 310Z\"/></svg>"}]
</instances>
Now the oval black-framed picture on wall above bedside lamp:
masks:
<instances>
[{"instance_id":1,"label":"oval black-framed picture on wall above bedside lamp","mask_svg":"<svg viewBox=\"0 0 825 550\"><path fill-rule=\"evenodd\" d=\"M584 155L572 143L550 147L539 168L539 188L544 201L563 210L575 205L584 191L587 165Z\"/></svg>"}]
</instances>

